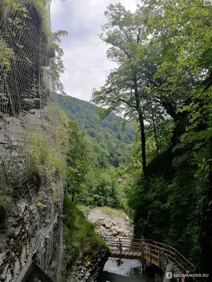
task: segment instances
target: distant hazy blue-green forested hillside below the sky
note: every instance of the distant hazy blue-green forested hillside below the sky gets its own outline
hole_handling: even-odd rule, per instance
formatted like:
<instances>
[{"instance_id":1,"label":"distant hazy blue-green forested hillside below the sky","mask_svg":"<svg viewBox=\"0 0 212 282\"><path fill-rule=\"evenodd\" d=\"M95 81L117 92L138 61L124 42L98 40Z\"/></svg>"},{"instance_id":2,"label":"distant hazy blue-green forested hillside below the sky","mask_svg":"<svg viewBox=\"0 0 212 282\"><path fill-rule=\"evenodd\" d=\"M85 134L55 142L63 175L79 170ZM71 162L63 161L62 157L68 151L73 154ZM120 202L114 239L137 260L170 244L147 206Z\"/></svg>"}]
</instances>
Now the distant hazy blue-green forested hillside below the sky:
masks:
<instances>
[{"instance_id":1,"label":"distant hazy blue-green forested hillside below the sky","mask_svg":"<svg viewBox=\"0 0 212 282\"><path fill-rule=\"evenodd\" d=\"M131 154L131 142L136 136L136 129L131 123L126 123L123 128L114 114L100 121L96 111L98 107L90 102L60 94L58 100L70 120L76 122L82 131L88 133L93 142L97 142L109 153L106 153L106 157L112 166L118 167L127 162Z\"/></svg>"}]
</instances>

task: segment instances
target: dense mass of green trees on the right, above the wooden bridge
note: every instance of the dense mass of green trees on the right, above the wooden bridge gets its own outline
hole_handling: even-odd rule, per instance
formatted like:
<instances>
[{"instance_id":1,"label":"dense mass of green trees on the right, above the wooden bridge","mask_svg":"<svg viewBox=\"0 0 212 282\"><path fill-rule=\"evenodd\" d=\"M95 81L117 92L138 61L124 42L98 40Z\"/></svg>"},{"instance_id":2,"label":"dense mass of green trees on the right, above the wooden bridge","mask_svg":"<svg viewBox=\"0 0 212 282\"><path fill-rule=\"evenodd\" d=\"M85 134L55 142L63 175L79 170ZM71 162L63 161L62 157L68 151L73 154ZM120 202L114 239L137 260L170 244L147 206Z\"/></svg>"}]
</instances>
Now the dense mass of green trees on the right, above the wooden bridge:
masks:
<instances>
[{"instance_id":1,"label":"dense mass of green trees on the right, above the wooden bridge","mask_svg":"<svg viewBox=\"0 0 212 282\"><path fill-rule=\"evenodd\" d=\"M202 1L110 4L98 35L117 63L92 101L139 126L126 189L135 235L211 269L211 7ZM133 163L131 163L132 166Z\"/></svg>"}]
</instances>

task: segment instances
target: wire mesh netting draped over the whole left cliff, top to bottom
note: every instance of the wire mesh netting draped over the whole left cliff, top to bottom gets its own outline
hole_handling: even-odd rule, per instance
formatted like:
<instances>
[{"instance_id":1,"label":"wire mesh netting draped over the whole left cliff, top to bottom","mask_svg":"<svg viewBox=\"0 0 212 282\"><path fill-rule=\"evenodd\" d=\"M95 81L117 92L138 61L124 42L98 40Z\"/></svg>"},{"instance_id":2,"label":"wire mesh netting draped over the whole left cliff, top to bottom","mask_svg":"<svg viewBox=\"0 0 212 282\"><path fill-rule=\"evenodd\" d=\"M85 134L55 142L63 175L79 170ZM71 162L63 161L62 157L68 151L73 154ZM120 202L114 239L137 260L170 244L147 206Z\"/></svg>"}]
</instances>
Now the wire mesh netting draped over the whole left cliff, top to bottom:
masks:
<instances>
[{"instance_id":1,"label":"wire mesh netting draped over the whole left cliff, top to bottom","mask_svg":"<svg viewBox=\"0 0 212 282\"><path fill-rule=\"evenodd\" d=\"M67 137L48 25L49 1L1 1L2 282L14 281L28 259L60 281Z\"/></svg>"}]
</instances>

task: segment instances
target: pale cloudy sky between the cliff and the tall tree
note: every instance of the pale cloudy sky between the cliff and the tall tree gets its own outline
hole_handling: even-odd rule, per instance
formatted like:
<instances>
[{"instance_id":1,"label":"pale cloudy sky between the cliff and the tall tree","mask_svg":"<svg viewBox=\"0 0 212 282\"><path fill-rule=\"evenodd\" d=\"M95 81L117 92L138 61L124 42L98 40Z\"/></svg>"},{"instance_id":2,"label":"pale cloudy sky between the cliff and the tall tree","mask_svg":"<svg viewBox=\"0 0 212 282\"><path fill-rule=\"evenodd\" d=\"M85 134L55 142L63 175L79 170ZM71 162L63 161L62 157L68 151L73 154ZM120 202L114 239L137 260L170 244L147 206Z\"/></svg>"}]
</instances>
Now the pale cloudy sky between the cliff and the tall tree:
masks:
<instances>
[{"instance_id":1,"label":"pale cloudy sky between the cliff and the tall tree","mask_svg":"<svg viewBox=\"0 0 212 282\"><path fill-rule=\"evenodd\" d=\"M104 42L98 38L107 22L104 12L112 3L121 2L135 11L140 0L52 0L52 30L67 30L62 39L65 73L62 75L66 94L90 100L93 88L104 84L114 63L107 60Z\"/></svg>"}]
</instances>

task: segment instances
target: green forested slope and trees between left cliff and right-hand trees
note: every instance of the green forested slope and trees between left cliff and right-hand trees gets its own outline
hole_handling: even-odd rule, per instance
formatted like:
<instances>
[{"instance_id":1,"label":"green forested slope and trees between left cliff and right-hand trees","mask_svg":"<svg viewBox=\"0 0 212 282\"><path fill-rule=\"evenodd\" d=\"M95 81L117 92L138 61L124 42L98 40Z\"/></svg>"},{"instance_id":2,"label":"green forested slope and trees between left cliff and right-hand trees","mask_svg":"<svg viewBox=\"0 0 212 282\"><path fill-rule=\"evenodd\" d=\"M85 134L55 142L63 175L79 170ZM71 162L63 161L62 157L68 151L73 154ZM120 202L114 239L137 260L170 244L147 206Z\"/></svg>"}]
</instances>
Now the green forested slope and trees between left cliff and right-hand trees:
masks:
<instances>
[{"instance_id":1,"label":"green forested slope and trees between left cliff and right-hand trees","mask_svg":"<svg viewBox=\"0 0 212 282\"><path fill-rule=\"evenodd\" d=\"M136 125L114 114L101 120L100 108L73 97L59 95L59 104L70 119L66 194L75 204L128 210L123 183Z\"/></svg>"}]
</instances>

